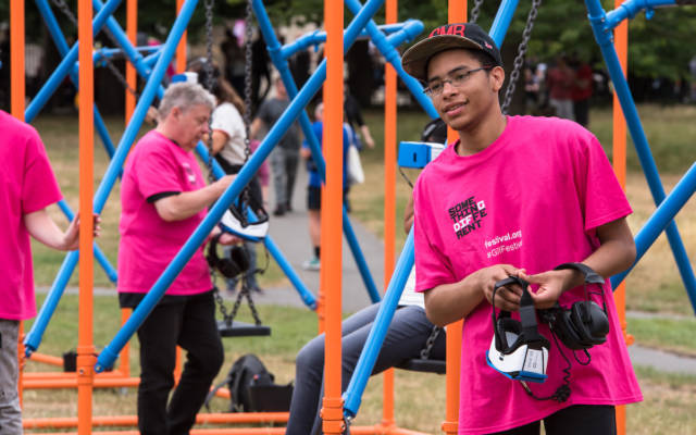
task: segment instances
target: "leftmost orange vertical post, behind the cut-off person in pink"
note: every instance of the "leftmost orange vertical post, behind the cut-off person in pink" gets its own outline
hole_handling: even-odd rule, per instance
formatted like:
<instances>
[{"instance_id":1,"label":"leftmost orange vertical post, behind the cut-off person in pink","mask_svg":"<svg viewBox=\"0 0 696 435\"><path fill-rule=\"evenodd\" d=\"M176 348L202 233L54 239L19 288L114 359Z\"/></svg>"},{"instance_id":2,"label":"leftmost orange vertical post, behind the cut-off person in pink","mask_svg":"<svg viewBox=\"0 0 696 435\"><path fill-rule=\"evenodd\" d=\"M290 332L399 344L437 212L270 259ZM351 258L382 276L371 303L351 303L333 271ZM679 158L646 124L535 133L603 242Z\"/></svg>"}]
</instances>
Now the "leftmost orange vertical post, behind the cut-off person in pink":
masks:
<instances>
[{"instance_id":1,"label":"leftmost orange vertical post, behind the cut-off person in pink","mask_svg":"<svg viewBox=\"0 0 696 435\"><path fill-rule=\"evenodd\" d=\"M20 121L24 121L24 0L10 2L10 111ZM8 67L4 65L4 67ZM20 322L17 356L20 377L17 380L20 403L22 403L22 381L24 373L24 327Z\"/></svg>"}]
</instances>

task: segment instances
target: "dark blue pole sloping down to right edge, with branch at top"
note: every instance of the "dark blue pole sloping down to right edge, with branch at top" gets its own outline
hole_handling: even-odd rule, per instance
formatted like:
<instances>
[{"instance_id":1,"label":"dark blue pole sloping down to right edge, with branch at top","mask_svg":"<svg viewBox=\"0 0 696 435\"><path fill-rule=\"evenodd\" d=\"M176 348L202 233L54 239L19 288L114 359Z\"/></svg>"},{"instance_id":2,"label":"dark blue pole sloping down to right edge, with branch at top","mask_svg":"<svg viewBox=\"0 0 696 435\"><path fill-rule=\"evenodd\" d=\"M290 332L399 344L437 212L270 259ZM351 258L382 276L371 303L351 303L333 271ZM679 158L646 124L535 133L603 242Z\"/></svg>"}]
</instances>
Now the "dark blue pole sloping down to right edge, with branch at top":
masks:
<instances>
[{"instance_id":1,"label":"dark blue pole sloping down to right edge, with branch at top","mask_svg":"<svg viewBox=\"0 0 696 435\"><path fill-rule=\"evenodd\" d=\"M614 13L613 16L616 16L616 18L612 18L612 25L616 26L618 24L617 21L619 17L624 15L629 16L630 14L634 15L635 13L631 11L650 3L657 4L657 2L650 2L649 0L638 0L637 2L630 1L626 8L619 8L618 12ZM587 7L589 24L592 25L597 45L601 50L611 80L614 84L614 89L626 119L626 125L631 132L631 137L633 139L636 153L638 154L641 165L643 166L643 172L645 173L648 186L650 187L652 199L655 204L659 206L666 198L664 188L660 182L657 165L652 159L647 137L645 136L635 102L633 101L633 96L629 89L629 84L623 75L619 57L617 55L617 50L613 46L611 29L607 26L607 14L601 9L599 0L585 0L585 4ZM660 2L660 4L664 3ZM674 216L672 215L672 217ZM686 293L691 299L694 312L696 312L696 278L694 277L694 271L688 261L686 249L684 248L684 244L682 243L674 221L671 221L667 225L666 233L672 248L672 253L674 254L674 260L676 261L676 266L679 268L682 281L686 287Z\"/></svg>"}]
</instances>

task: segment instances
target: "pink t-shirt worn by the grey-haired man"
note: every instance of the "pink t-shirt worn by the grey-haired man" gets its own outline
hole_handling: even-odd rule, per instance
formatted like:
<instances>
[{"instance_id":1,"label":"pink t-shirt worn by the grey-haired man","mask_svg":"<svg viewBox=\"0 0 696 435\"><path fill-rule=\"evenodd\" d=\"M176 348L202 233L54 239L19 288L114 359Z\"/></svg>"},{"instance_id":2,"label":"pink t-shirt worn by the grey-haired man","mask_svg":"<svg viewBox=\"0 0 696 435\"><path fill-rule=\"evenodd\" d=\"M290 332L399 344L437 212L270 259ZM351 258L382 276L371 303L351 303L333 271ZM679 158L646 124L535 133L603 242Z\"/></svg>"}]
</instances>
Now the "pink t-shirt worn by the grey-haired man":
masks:
<instances>
[{"instance_id":1,"label":"pink t-shirt worn by the grey-haired man","mask_svg":"<svg viewBox=\"0 0 696 435\"><path fill-rule=\"evenodd\" d=\"M152 130L128 156L121 183L119 291L147 293L206 217L206 210L183 221L166 222L148 198L198 190L206 186L198 162L172 140ZM166 290L195 295L212 288L203 248Z\"/></svg>"}]
</instances>

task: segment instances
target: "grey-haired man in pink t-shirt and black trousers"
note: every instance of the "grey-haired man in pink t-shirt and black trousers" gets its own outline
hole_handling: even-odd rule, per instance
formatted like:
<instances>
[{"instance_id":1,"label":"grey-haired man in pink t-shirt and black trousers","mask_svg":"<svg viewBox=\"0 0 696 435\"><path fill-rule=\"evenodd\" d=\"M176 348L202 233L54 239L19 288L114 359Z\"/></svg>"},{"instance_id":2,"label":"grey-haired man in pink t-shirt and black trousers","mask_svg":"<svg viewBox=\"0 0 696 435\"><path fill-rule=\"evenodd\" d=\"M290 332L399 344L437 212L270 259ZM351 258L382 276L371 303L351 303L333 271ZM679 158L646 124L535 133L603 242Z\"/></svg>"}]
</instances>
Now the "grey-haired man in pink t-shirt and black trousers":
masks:
<instances>
[{"instance_id":1,"label":"grey-haired man in pink t-shirt and black trousers","mask_svg":"<svg viewBox=\"0 0 696 435\"><path fill-rule=\"evenodd\" d=\"M135 145L123 170L119 300L135 308L160 277L206 211L234 176L206 185L192 153L209 132L215 100L191 83L171 85L159 107L159 124ZM225 234L222 245L238 239ZM212 282L199 248L138 330L142 434L187 434L223 363ZM174 389L176 346L187 351ZM169 399L169 403L167 403Z\"/></svg>"}]
</instances>

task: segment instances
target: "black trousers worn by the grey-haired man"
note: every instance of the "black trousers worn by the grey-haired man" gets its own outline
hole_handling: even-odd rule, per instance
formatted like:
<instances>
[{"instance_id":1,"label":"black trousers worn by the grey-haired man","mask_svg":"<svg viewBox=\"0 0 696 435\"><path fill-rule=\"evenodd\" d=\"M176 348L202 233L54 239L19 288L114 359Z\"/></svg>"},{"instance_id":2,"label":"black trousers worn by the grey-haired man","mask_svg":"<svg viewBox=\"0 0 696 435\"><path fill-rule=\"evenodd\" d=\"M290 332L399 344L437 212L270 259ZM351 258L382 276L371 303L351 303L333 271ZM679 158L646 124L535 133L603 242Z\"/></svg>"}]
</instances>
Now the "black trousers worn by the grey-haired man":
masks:
<instances>
[{"instance_id":1,"label":"black trousers worn by the grey-haired man","mask_svg":"<svg viewBox=\"0 0 696 435\"><path fill-rule=\"evenodd\" d=\"M140 433L188 434L224 359L212 291L159 303L138 330L138 339ZM167 406L177 345L187 351L186 363Z\"/></svg>"}]
</instances>

